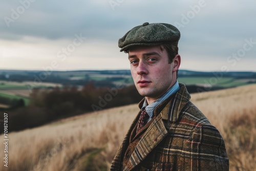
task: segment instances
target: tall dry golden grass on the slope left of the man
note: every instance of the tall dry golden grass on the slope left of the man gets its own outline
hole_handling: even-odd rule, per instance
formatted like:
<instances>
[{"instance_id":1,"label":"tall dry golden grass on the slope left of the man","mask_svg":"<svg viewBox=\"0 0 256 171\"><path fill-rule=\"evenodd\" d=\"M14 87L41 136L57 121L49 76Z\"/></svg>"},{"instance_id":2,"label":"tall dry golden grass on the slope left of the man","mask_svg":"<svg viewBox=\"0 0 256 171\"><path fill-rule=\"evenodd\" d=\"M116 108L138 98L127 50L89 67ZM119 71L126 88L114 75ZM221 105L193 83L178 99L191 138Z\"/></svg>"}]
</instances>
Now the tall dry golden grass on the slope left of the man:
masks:
<instances>
[{"instance_id":1,"label":"tall dry golden grass on the slope left of the man","mask_svg":"<svg viewBox=\"0 0 256 171\"><path fill-rule=\"evenodd\" d=\"M128 105L12 132L0 170L106 170L137 112Z\"/></svg>"}]
</instances>

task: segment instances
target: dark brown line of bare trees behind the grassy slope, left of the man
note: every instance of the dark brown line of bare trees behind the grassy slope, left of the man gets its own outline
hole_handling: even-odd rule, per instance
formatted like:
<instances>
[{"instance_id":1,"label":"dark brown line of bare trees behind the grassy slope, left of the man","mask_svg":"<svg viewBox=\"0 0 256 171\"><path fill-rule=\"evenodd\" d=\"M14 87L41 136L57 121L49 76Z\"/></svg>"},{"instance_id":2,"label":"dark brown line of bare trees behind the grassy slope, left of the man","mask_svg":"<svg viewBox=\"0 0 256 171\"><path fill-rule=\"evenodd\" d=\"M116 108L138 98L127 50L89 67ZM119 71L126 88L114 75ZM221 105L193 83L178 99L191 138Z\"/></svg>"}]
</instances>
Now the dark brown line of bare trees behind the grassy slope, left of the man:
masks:
<instances>
[{"instance_id":1,"label":"dark brown line of bare trees behind the grassy slope, left of the man","mask_svg":"<svg viewBox=\"0 0 256 171\"><path fill-rule=\"evenodd\" d=\"M76 86L52 90L33 89L28 106L20 105L19 108L2 111L8 113L10 132L87 112L138 103L142 98L135 86L96 87L91 81L80 90Z\"/></svg>"}]
</instances>

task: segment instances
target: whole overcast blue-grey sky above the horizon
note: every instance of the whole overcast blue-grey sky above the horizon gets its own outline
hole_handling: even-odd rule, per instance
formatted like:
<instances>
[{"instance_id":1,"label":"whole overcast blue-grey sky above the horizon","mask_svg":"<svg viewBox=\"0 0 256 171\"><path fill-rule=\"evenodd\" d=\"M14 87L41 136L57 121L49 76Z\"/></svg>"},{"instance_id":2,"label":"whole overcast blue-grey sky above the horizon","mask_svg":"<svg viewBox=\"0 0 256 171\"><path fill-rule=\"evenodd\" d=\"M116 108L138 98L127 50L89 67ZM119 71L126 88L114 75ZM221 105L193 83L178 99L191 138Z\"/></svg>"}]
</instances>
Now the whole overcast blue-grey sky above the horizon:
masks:
<instances>
[{"instance_id":1,"label":"whole overcast blue-grey sky above the horizon","mask_svg":"<svg viewBox=\"0 0 256 171\"><path fill-rule=\"evenodd\" d=\"M130 69L118 39L135 26L179 28L183 70L256 71L256 1L0 2L0 69Z\"/></svg>"}]
</instances>

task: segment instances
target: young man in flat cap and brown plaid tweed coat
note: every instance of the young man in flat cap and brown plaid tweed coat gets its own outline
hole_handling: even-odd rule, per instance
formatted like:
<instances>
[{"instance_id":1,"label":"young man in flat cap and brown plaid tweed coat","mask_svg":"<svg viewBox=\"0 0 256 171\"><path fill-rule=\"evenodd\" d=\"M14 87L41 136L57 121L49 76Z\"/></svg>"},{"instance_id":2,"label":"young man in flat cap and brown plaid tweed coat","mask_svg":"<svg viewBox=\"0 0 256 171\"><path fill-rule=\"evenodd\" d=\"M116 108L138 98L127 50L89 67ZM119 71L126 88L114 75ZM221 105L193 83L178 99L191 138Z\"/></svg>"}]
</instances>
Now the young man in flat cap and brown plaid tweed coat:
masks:
<instances>
[{"instance_id":1,"label":"young man in flat cap and brown plaid tweed coat","mask_svg":"<svg viewBox=\"0 0 256 171\"><path fill-rule=\"evenodd\" d=\"M111 170L228 170L222 136L177 81L179 39L179 30L164 23L144 23L119 39L145 98Z\"/></svg>"}]
</instances>

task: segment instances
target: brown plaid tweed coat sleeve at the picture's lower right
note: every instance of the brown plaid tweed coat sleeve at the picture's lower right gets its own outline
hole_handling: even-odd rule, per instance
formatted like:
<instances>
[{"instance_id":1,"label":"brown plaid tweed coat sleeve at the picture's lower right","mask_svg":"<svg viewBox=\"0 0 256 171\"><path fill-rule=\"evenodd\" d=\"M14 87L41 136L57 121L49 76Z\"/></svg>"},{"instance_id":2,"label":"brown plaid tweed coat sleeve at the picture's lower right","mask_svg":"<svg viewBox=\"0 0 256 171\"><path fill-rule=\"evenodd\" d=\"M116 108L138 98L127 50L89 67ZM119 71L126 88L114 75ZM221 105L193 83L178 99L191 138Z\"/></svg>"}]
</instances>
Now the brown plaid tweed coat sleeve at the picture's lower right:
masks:
<instances>
[{"instance_id":1,"label":"brown plaid tweed coat sleeve at the picture's lower right","mask_svg":"<svg viewBox=\"0 0 256 171\"><path fill-rule=\"evenodd\" d=\"M187 170L229 170L225 143L216 127L197 126L187 143L191 147Z\"/></svg>"}]
</instances>

